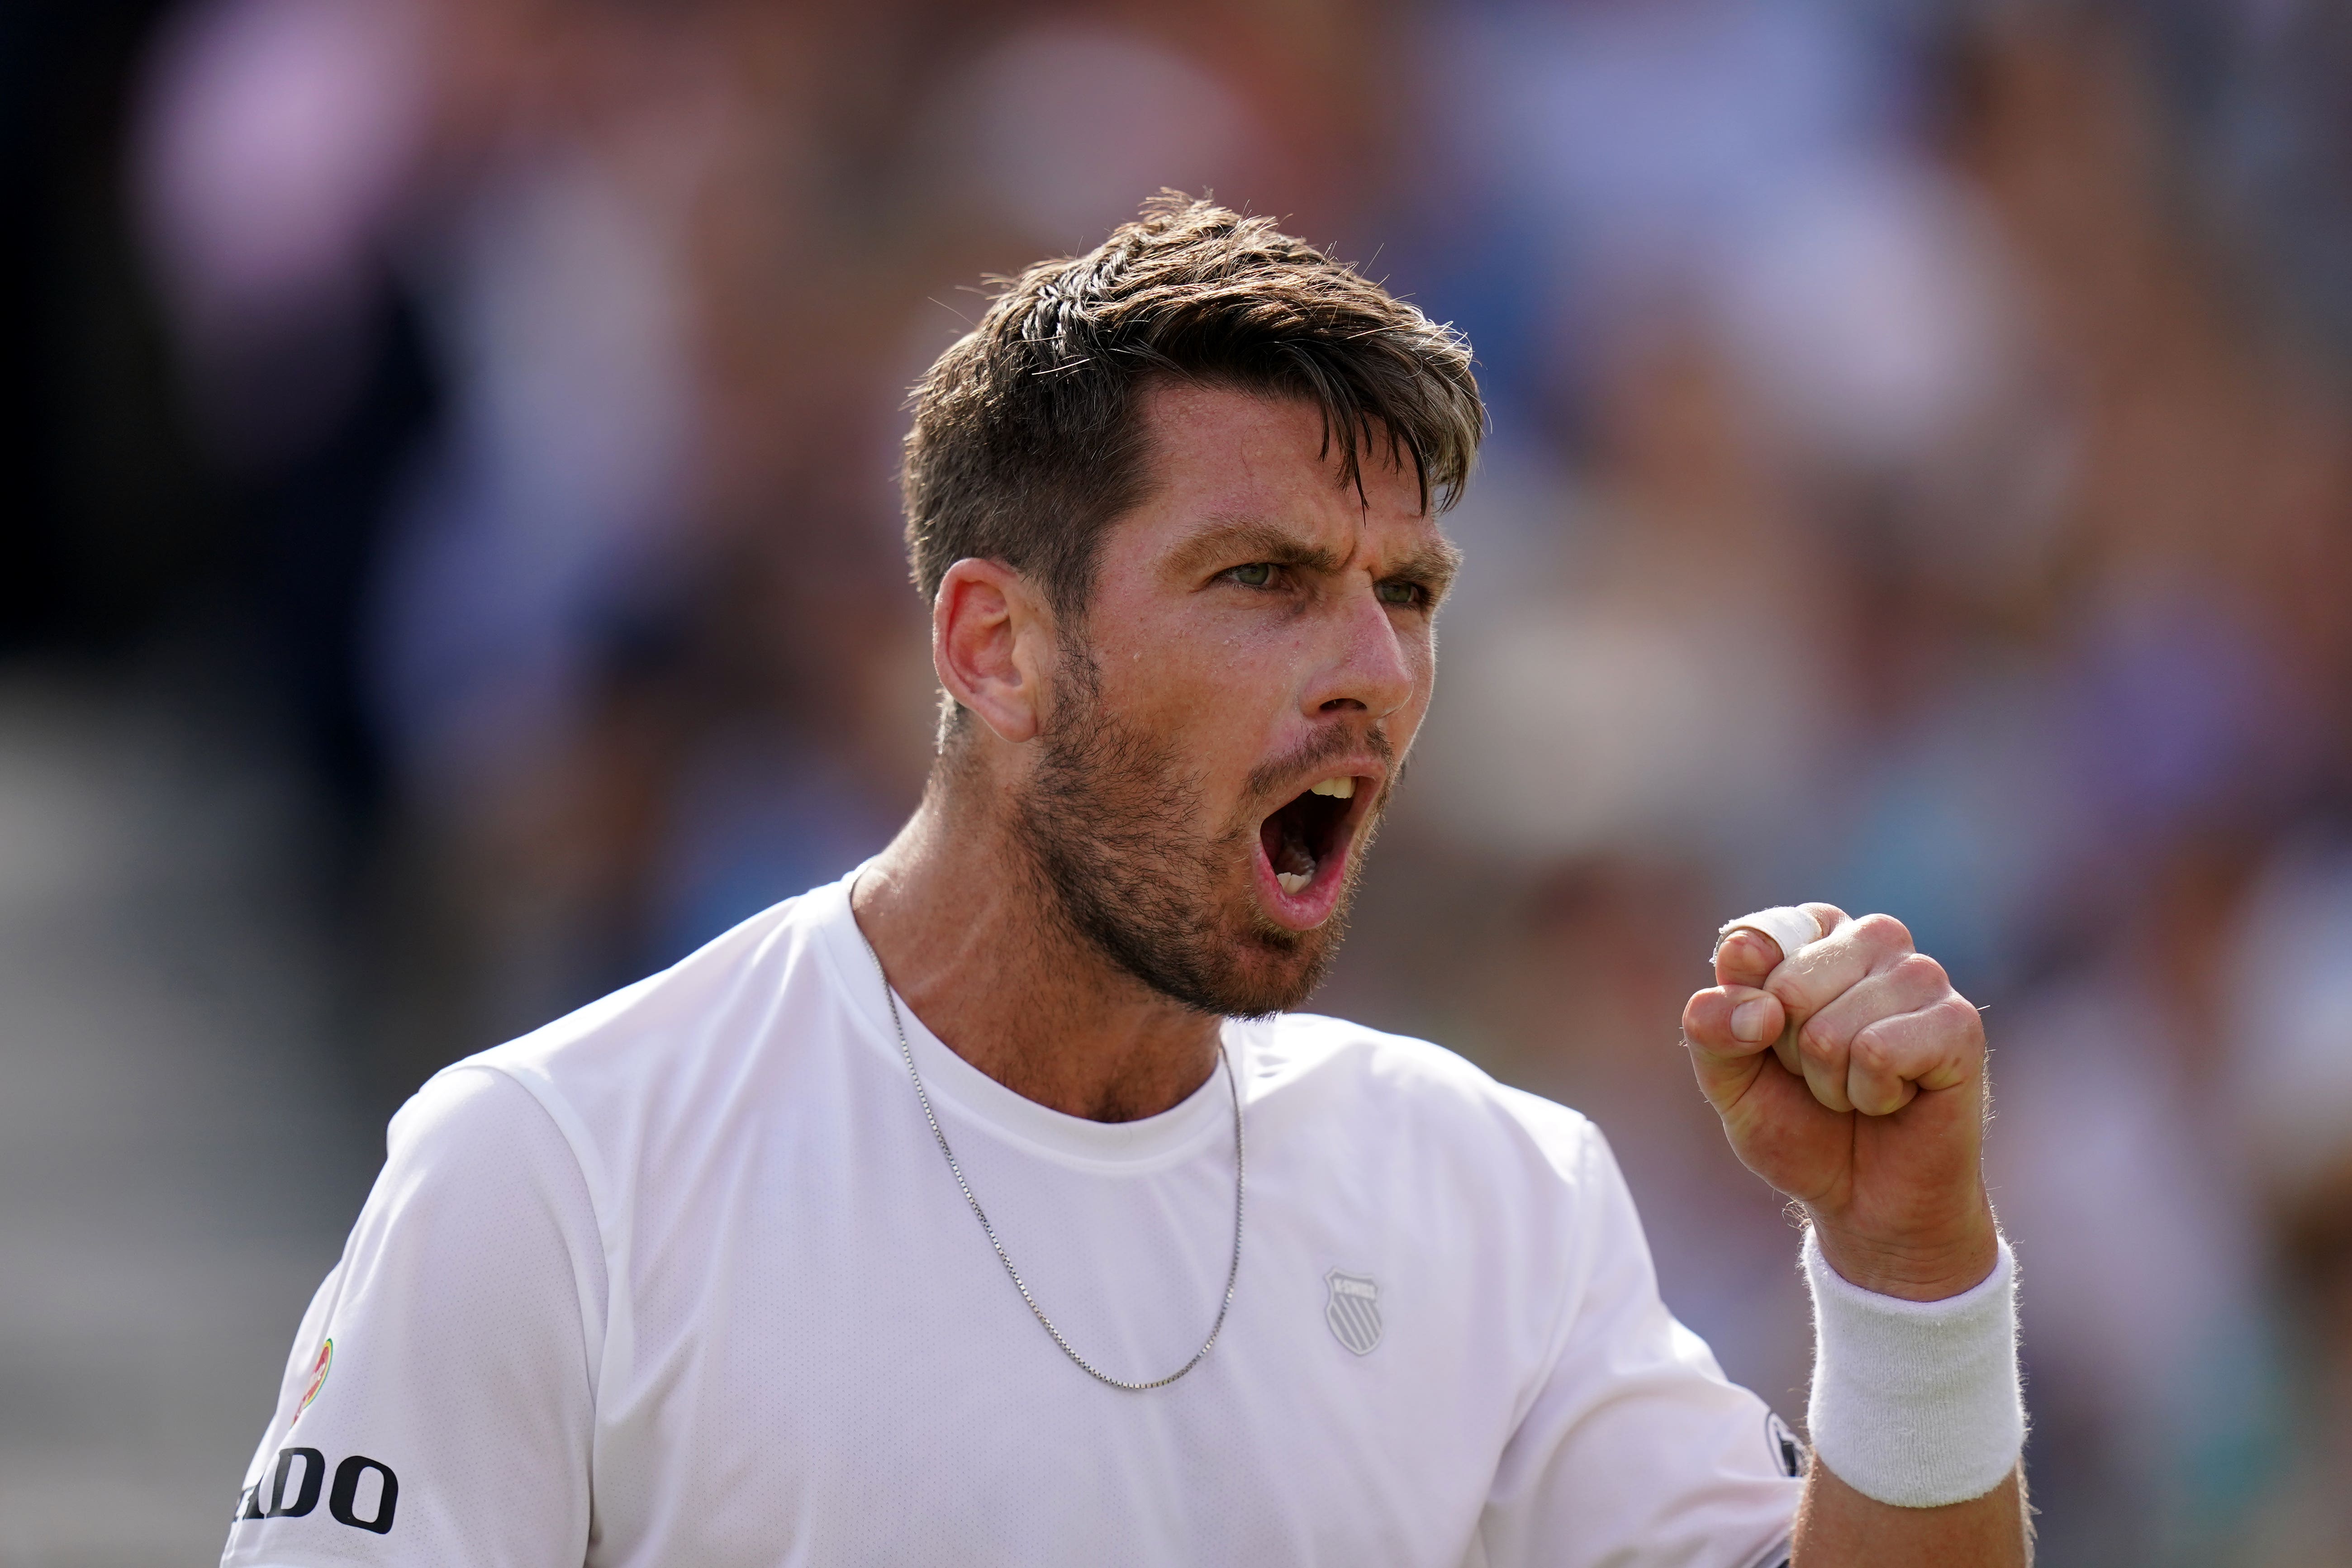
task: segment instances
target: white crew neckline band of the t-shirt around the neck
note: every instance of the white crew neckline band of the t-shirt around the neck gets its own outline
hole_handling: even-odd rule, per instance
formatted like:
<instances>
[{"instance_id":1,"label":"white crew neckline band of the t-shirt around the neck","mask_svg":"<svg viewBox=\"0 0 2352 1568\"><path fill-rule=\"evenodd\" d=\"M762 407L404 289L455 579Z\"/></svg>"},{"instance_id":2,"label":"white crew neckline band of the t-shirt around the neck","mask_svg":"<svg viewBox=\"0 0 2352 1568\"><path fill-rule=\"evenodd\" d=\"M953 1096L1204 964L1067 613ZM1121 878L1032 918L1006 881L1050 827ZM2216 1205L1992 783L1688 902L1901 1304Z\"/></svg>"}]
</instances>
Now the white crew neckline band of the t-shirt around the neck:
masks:
<instances>
[{"instance_id":1,"label":"white crew neckline band of the t-shirt around the neck","mask_svg":"<svg viewBox=\"0 0 2352 1568\"><path fill-rule=\"evenodd\" d=\"M856 886L863 870L858 865L840 882L811 891L809 905L835 980L858 1023L866 1025L861 1034L887 1058L891 1074L906 1091L908 1114L920 1117L915 1086L898 1056L898 1032L891 1027L889 1006L882 999L882 966L849 907L849 889ZM1249 1081L1247 1065L1240 1060L1249 1046L1249 1030L1237 1027L1230 1018L1218 1030L1225 1048L1216 1070L1190 1095L1157 1117L1089 1121L1040 1105L995 1081L934 1034L906 997L898 997L896 987L891 987L891 997L898 1001L898 1020L906 1027L906 1048L915 1058L915 1072L922 1074L922 1086L941 1119L953 1117L971 1124L1002 1143L1063 1166L1124 1175L1162 1171L1190 1159L1218 1138L1232 1135L1232 1091L1228 1084L1235 1081L1232 1074L1240 1074L1242 1084Z\"/></svg>"}]
</instances>

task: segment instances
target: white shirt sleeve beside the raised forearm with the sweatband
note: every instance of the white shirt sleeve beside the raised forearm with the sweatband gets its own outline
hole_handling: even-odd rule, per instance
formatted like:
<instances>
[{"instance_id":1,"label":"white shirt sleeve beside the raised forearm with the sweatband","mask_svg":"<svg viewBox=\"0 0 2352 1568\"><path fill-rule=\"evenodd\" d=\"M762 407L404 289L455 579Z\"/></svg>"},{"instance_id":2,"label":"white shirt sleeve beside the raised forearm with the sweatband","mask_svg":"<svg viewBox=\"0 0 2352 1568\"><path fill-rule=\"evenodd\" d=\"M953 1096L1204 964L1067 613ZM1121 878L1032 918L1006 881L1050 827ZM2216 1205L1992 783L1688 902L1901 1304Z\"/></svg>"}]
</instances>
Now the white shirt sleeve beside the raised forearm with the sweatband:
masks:
<instances>
[{"instance_id":1,"label":"white shirt sleeve beside the raised forearm with the sweatband","mask_svg":"<svg viewBox=\"0 0 2352 1568\"><path fill-rule=\"evenodd\" d=\"M1581 1166L1583 1286L1503 1448L1479 1521L1486 1563L1778 1568L1802 1450L1658 1300L1632 1194L1595 1128Z\"/></svg>"}]
</instances>

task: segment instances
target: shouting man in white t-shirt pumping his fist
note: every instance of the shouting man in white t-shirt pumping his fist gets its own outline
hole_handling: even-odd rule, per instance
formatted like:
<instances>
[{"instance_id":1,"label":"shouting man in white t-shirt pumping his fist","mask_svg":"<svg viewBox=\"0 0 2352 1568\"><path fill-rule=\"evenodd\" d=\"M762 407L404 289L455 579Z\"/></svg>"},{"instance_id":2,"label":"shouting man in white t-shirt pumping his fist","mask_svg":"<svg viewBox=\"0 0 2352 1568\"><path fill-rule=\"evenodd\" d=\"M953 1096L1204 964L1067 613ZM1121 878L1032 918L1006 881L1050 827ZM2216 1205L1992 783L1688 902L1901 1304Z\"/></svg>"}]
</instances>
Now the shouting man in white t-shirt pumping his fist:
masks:
<instances>
[{"instance_id":1,"label":"shouting man in white t-shirt pumping his fist","mask_svg":"<svg viewBox=\"0 0 2352 1568\"><path fill-rule=\"evenodd\" d=\"M1983 1037L1898 924L1757 914L1684 1013L1813 1222L1802 1479L1590 1124L1289 1011L1482 423L1261 219L1016 280L908 440L920 811L400 1112L223 1561L2023 1561Z\"/></svg>"}]
</instances>

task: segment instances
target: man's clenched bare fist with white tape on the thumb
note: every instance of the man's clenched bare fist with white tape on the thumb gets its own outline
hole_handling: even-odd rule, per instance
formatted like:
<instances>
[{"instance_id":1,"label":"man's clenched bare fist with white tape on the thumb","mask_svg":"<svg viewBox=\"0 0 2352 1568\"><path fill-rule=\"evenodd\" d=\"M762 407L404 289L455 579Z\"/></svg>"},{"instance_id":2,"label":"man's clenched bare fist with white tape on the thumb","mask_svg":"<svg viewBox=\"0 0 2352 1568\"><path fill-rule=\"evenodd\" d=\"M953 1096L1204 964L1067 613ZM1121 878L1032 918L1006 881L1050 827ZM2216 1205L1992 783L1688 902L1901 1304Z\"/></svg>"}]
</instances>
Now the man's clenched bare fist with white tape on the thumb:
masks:
<instances>
[{"instance_id":1,"label":"man's clenched bare fist with white tape on the thumb","mask_svg":"<svg viewBox=\"0 0 2352 1568\"><path fill-rule=\"evenodd\" d=\"M1825 903L1731 922L1682 1034L1731 1147L1804 1204L1830 1267L1910 1300L1992 1272L1985 1027L1903 922Z\"/></svg>"}]
</instances>

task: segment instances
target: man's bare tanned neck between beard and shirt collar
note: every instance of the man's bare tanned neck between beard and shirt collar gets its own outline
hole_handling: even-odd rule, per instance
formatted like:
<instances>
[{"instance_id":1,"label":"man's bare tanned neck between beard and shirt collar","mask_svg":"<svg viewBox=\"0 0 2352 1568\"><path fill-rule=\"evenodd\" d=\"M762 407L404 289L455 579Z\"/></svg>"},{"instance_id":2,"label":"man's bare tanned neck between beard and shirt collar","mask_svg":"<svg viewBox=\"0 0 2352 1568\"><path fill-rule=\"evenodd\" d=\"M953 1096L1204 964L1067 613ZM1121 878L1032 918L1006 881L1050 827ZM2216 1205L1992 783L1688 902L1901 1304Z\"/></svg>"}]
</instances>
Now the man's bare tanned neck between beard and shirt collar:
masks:
<instances>
[{"instance_id":1,"label":"man's bare tanned neck between beard and shirt collar","mask_svg":"<svg viewBox=\"0 0 2352 1568\"><path fill-rule=\"evenodd\" d=\"M1004 820L934 778L851 910L898 997L950 1051L1044 1107L1134 1121L1216 1072L1218 1020L1115 969L1049 903Z\"/></svg>"}]
</instances>

